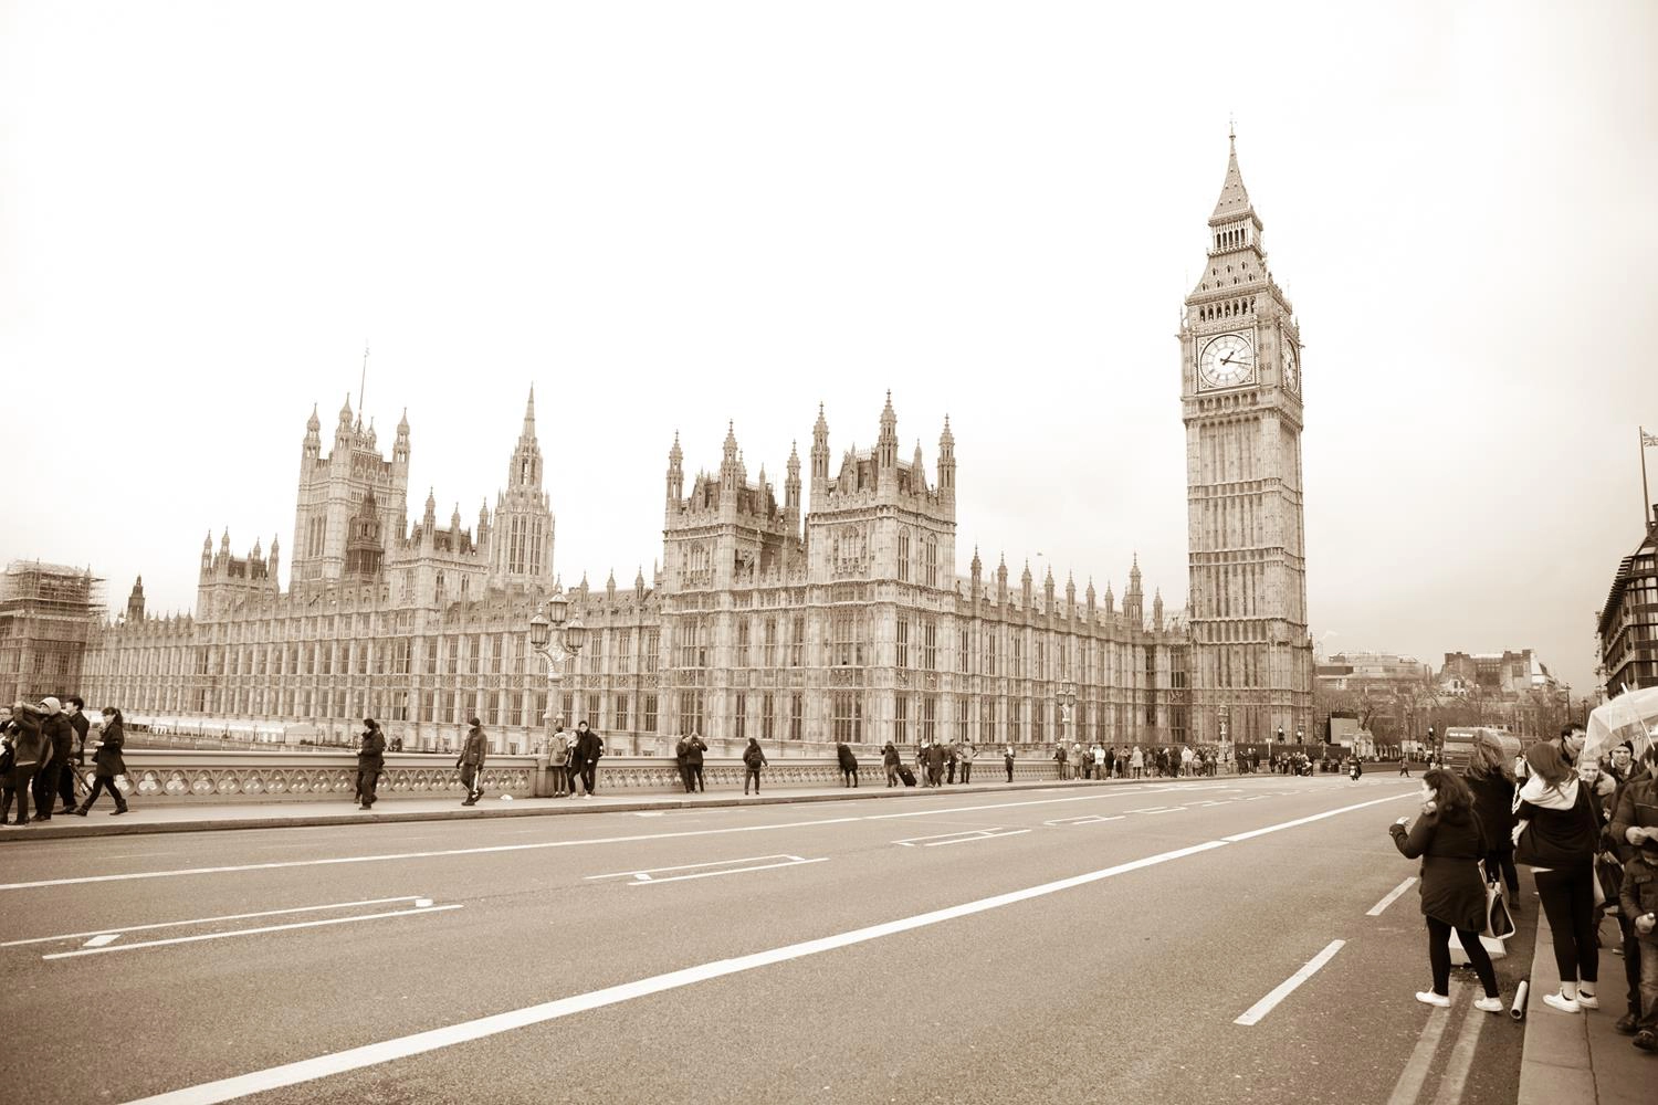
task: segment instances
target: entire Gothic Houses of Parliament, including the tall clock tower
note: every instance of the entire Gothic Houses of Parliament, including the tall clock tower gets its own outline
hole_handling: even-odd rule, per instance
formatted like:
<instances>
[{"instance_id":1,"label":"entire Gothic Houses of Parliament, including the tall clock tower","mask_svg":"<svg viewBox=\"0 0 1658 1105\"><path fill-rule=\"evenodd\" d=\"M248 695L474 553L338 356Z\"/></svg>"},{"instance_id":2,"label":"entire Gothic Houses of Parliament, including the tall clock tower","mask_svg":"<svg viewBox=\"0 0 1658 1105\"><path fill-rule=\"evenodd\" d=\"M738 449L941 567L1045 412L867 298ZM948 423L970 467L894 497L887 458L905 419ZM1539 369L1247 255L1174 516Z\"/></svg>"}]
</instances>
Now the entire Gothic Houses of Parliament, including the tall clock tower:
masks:
<instances>
[{"instance_id":1,"label":"entire Gothic Houses of Parliament, including the tall clock tower","mask_svg":"<svg viewBox=\"0 0 1658 1105\"><path fill-rule=\"evenodd\" d=\"M453 747L479 717L526 750L545 717L587 719L613 752L715 741L972 739L978 746L1311 739L1302 527L1300 333L1229 156L1204 277L1179 335L1189 601L1121 598L1051 570L1010 577L957 548L957 442L900 456L892 396L872 449L831 447L822 408L781 497L733 427L688 477L678 437L658 505L660 567L567 591L589 643L555 684L529 620L555 586L555 527L531 391L507 479L473 525L408 519L408 419L390 459L340 409L298 457L288 586L272 540L202 543L196 608L146 613L143 581L101 626L85 697L131 721L312 726L381 719L405 747ZM1171 373L1171 378L1174 374ZM643 504L642 504L643 507ZM1074 699L1073 699L1074 696ZM1073 702L1069 721L1061 701ZM718 746L716 746L718 749Z\"/></svg>"}]
</instances>

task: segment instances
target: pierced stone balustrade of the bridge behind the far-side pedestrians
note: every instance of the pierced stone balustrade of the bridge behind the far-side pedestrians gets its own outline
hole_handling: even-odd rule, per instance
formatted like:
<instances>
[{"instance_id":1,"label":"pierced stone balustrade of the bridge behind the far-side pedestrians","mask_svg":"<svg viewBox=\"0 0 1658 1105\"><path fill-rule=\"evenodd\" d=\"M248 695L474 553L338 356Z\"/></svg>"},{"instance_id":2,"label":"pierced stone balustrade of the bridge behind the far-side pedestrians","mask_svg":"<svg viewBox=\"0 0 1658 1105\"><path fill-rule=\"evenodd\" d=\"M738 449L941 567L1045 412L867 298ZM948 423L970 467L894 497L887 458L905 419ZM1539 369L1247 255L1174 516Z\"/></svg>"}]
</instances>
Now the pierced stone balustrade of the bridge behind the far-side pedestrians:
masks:
<instances>
[{"instance_id":1,"label":"pierced stone balustrade of the bridge behind the far-side pedestrians","mask_svg":"<svg viewBox=\"0 0 1658 1105\"><path fill-rule=\"evenodd\" d=\"M783 757L769 754L766 787L831 787L841 784L839 762L829 757ZM910 762L905 755L905 762ZM133 749L126 755L128 784L134 800L164 803L224 805L230 802L328 802L350 800L356 792L356 755L351 752L207 752L184 749ZM461 795L461 774L453 754L388 752L380 779L381 799L434 799ZM1000 755L973 764L975 782L1006 779ZM91 765L83 772L91 782ZM743 762L736 757L706 757L703 782L710 790L743 785ZM1015 760L1018 782L1054 780L1051 760ZM859 757L862 785L885 785L879 755ZM534 755L491 755L484 765L484 789L514 799L545 797L552 792L545 759ZM600 794L680 792L680 772L660 755L605 755L599 760Z\"/></svg>"}]
</instances>

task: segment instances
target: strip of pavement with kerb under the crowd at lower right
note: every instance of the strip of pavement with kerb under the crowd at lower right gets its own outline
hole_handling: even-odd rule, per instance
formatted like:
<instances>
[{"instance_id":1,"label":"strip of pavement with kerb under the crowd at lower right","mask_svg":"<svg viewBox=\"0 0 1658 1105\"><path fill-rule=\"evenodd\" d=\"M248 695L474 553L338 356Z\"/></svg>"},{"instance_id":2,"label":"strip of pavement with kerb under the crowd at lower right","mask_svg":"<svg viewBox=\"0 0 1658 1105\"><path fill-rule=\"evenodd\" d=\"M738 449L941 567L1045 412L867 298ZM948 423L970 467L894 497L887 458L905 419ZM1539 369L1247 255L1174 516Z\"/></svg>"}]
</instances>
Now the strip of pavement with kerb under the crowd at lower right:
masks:
<instances>
[{"instance_id":1,"label":"strip of pavement with kerb under the crowd at lower right","mask_svg":"<svg viewBox=\"0 0 1658 1105\"><path fill-rule=\"evenodd\" d=\"M1617 919L1603 918L1600 926L1600 986L1595 991L1600 1009L1567 1014L1544 1004L1544 994L1560 989L1560 972L1542 905L1535 906L1535 913L1537 946L1532 951L1532 992L1525 1001L1519 1105L1651 1105L1658 1057L1636 1050L1630 1037L1618 1035L1612 1027L1626 1011L1623 956L1612 954L1620 939Z\"/></svg>"}]
</instances>

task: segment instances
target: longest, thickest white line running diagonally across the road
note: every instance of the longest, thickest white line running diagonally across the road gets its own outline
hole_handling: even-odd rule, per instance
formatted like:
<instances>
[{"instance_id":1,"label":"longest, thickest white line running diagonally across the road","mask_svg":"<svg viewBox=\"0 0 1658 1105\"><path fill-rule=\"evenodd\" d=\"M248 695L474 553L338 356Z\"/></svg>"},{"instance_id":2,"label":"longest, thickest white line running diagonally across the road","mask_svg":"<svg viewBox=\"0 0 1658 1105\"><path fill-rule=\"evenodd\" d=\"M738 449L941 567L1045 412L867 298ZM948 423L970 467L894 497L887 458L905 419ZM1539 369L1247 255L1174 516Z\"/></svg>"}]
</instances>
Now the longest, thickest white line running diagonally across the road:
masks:
<instances>
[{"instance_id":1,"label":"longest, thickest white line running diagonally across the road","mask_svg":"<svg viewBox=\"0 0 1658 1105\"><path fill-rule=\"evenodd\" d=\"M754 971L758 967L766 967L778 963L788 963L791 959L816 956L826 951L836 951L839 948L862 944L872 939L880 939L884 936L894 936L897 933L909 933L919 928L927 928L930 924L942 924L943 921L953 921L957 918L972 916L975 913L985 913L988 910L998 910L1001 906L1010 906L1020 901L1030 901L1033 898L1059 893L1063 890L1071 890L1074 886L1086 886L1088 883L1098 883L1099 880L1104 878L1126 875L1129 871L1137 871L1141 868L1156 866L1159 863L1167 863L1171 860L1179 860L1189 855L1197 855L1200 852L1210 852L1214 848L1224 848L1224 847L1225 843L1220 840L1209 840L1200 845L1192 845L1190 848L1159 852L1157 855L1151 855L1142 860L1131 860L1127 863L1119 863L1116 866L1108 866L1098 871L1073 875L1071 878L1061 878L1053 883L1041 883L1040 886L1026 886L1025 890L1015 890L1005 895L995 895L991 898L980 898L977 901L967 901L957 906L933 910L930 913L919 913L915 916L900 918L897 921L870 924L867 928L852 929L849 933L837 933L834 936L809 939L797 944L786 944L783 948L773 948L769 951L758 951L749 956L738 956L734 959L718 959L715 963L705 963L695 967L685 967L681 971L670 971L667 974L657 974L647 979L638 979L637 982L608 986L605 989L592 991L587 994L559 997L555 1001L542 1002L539 1006L527 1006L524 1009L512 1009L489 1017L479 1017L476 1021L463 1021L461 1024L451 1024L441 1029L429 1029L426 1032L403 1035L395 1040L386 1040L381 1044L365 1044L363 1047L353 1047L350 1050L335 1052L333 1055L302 1059L298 1062L284 1064L280 1067L270 1067L269 1070L257 1070L232 1078L222 1078L219 1082L206 1082L202 1085L192 1085L181 1090L172 1090L169 1093L158 1093L154 1097L146 1097L138 1102L129 1102L128 1105L209 1105L211 1102L229 1102L232 1098L245 1097L249 1093L264 1093L287 1085L312 1082L313 1078L345 1074L347 1070L375 1067L396 1059L406 1059L410 1055L419 1055L443 1047L453 1047L454 1044L464 1044L468 1040L478 1040L487 1035L511 1032L514 1029L522 1029L532 1024L545 1024L549 1021L557 1021L560 1017L569 1017L572 1014L587 1012L590 1009L602 1009L605 1006L615 1006L618 1002L632 1001L635 997L645 997L648 994L660 994L663 991L691 986L693 982L706 982L708 979L718 979L730 974L741 974L744 971Z\"/></svg>"}]
</instances>

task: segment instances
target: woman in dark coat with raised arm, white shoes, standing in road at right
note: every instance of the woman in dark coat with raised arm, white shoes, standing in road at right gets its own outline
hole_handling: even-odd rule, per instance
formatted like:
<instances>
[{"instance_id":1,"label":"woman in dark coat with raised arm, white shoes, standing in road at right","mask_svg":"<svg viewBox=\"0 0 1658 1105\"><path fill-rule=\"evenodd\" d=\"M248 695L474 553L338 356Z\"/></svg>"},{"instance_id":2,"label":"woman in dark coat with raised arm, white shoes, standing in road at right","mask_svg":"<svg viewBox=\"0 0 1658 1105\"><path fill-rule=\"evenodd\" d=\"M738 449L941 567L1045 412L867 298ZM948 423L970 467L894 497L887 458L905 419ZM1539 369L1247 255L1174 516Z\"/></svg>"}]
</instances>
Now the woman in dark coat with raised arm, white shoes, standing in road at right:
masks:
<instances>
[{"instance_id":1,"label":"woman in dark coat with raised arm, white shoes, standing in road at right","mask_svg":"<svg viewBox=\"0 0 1658 1105\"><path fill-rule=\"evenodd\" d=\"M1456 931L1467 961L1479 974L1486 996L1476 1009L1502 1012L1497 994L1497 971L1491 966L1479 933L1486 928L1486 880L1479 876L1479 860L1487 852L1486 833L1474 815L1474 795L1447 770L1423 774L1423 813L1411 823L1396 820L1388 832L1408 860L1423 860L1423 916L1428 918L1428 963L1433 967L1431 991L1418 991L1416 1001L1451 1006L1451 931Z\"/></svg>"}]
</instances>

